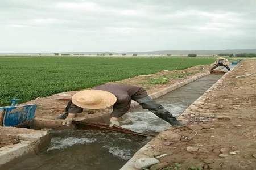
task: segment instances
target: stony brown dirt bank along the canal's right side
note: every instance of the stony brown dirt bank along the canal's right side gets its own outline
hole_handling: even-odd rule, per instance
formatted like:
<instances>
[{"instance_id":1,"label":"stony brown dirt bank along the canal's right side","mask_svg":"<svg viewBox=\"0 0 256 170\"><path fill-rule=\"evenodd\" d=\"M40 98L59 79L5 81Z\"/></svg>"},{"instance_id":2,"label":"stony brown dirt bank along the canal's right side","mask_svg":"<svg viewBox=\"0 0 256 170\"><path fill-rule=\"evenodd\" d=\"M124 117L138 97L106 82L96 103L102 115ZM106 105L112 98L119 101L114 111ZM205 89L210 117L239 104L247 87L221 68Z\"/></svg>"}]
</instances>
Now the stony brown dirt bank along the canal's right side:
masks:
<instances>
[{"instance_id":1,"label":"stony brown dirt bank along the canal's right side","mask_svg":"<svg viewBox=\"0 0 256 170\"><path fill-rule=\"evenodd\" d=\"M165 169L256 169L256 61L243 61L193 112L192 125L159 136L147 154L167 154Z\"/></svg>"}]
</instances>

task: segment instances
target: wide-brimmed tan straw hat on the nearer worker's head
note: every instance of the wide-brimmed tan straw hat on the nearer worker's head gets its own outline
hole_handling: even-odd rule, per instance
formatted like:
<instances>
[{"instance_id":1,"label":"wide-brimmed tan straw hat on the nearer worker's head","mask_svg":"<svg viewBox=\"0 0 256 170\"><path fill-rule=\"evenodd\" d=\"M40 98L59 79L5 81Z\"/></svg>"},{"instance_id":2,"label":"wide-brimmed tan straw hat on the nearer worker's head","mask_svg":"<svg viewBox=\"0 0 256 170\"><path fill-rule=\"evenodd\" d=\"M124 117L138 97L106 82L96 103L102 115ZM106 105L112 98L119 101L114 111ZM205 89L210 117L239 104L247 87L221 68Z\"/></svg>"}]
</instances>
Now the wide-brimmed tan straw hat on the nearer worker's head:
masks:
<instances>
[{"instance_id":1,"label":"wide-brimmed tan straw hat on the nearer worker's head","mask_svg":"<svg viewBox=\"0 0 256 170\"><path fill-rule=\"evenodd\" d=\"M104 109L117 101L117 97L108 91L84 90L72 97L72 103L85 109Z\"/></svg>"}]
</instances>

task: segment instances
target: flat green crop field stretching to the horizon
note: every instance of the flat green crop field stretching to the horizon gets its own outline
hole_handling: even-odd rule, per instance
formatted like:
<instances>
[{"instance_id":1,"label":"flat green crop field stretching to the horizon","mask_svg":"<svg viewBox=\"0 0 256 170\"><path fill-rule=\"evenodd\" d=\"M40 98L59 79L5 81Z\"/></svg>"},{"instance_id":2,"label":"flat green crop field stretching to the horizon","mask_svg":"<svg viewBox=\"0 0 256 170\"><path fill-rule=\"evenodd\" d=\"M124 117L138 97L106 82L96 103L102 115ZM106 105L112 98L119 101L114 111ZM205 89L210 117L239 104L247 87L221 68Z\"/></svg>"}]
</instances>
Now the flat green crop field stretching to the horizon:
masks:
<instances>
[{"instance_id":1,"label":"flat green crop field stretching to the horizon","mask_svg":"<svg viewBox=\"0 0 256 170\"><path fill-rule=\"evenodd\" d=\"M161 70L213 63L213 58L0 57L0 105L80 90Z\"/></svg>"}]
</instances>

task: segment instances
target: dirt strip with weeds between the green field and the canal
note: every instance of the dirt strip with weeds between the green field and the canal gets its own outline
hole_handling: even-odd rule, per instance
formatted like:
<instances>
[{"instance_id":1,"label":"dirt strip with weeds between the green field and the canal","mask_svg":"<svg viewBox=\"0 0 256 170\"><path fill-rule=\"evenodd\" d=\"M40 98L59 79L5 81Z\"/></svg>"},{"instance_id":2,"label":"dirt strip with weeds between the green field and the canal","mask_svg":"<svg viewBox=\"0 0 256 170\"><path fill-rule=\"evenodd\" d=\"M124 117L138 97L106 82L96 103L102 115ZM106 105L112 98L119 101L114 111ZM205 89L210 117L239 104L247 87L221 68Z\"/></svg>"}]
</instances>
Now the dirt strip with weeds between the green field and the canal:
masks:
<instances>
[{"instance_id":1,"label":"dirt strip with weeds between the green field and the canal","mask_svg":"<svg viewBox=\"0 0 256 170\"><path fill-rule=\"evenodd\" d=\"M181 82L184 79L188 79L191 76L195 76L201 73L205 73L209 71L210 65L202 65L202 66L195 66L184 70L174 70L174 71L168 71L164 70L159 73L151 74L151 75L141 75L130 79L125 79L116 83L124 83L124 84L133 84L135 86L141 86L144 87L148 94L151 94L153 92L162 90L165 87L170 86L171 84ZM73 95L77 91L69 91L64 92L64 95ZM60 113L63 113L65 105L67 104L67 101L64 100L58 100L60 96L58 94L52 95L49 97L42 97L38 98L36 100L28 101L24 104L36 104L38 105L38 108L36 109L36 118L42 118L42 119L51 119ZM107 109L98 109L94 111L87 111L83 114L78 114L78 117L81 118L90 118L94 117L95 114L101 115L102 113L110 113L112 111L112 108Z\"/></svg>"}]
</instances>

